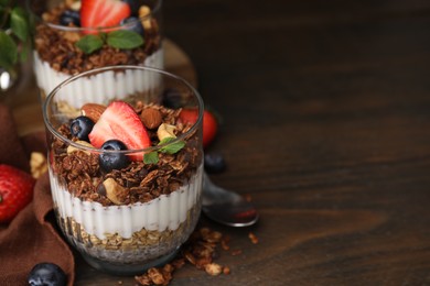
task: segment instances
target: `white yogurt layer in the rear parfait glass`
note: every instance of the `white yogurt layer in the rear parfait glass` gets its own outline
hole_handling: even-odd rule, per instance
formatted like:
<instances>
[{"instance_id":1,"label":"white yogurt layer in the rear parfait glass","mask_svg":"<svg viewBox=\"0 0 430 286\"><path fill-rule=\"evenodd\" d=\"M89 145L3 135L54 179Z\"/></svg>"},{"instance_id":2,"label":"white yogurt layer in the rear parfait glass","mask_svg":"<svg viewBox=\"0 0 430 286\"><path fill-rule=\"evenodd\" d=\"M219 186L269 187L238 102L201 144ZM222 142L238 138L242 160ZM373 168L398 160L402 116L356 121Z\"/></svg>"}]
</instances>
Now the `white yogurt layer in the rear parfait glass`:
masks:
<instances>
[{"instance_id":1,"label":"white yogurt layer in the rear parfait glass","mask_svg":"<svg viewBox=\"0 0 430 286\"><path fill-rule=\"evenodd\" d=\"M142 65L162 69L164 67L163 48L159 48L155 53L148 56ZM68 74L53 69L47 62L39 57L36 52L34 52L34 73L43 99L57 85L71 77ZM73 89L64 87L61 94L64 98L67 98L72 107L80 108L84 103L88 102L88 98L85 95L93 95L93 98L98 102L108 101L114 96L117 99L123 99L126 96L135 92L142 92L155 88L159 80L154 73L150 74L144 70L127 70L126 73L110 72L88 77L80 85L74 84Z\"/></svg>"}]
</instances>

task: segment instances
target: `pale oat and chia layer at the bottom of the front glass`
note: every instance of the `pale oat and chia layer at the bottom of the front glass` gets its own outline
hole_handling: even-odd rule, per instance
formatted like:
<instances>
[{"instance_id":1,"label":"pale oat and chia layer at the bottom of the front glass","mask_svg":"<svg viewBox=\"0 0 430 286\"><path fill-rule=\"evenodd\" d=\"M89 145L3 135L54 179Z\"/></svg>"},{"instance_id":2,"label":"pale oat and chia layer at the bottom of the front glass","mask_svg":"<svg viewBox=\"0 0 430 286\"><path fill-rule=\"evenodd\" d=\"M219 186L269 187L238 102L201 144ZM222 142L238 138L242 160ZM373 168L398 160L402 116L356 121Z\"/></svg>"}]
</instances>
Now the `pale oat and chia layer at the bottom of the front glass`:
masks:
<instances>
[{"instance_id":1,"label":"pale oat and chia layer at the bottom of the front glass","mask_svg":"<svg viewBox=\"0 0 430 286\"><path fill-rule=\"evenodd\" d=\"M132 232L131 237L107 232L100 238L88 233L74 217L62 217L58 208L55 211L66 238L83 253L110 263L144 264L175 251L186 241L197 223L200 204L186 211L186 218L175 229L160 231L142 228Z\"/></svg>"}]
</instances>

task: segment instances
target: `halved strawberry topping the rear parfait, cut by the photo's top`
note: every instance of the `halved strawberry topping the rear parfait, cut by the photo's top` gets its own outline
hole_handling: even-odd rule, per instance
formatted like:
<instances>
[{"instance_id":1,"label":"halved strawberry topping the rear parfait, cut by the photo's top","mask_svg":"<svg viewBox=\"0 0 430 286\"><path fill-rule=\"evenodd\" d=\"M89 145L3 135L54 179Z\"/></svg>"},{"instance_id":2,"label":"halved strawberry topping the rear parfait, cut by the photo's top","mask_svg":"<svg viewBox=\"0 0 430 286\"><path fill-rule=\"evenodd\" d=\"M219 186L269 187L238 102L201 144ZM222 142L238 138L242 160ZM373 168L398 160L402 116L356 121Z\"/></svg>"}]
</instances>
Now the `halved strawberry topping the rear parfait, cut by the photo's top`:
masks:
<instances>
[{"instance_id":1,"label":"halved strawberry topping the rear parfait, cut by the photo's top","mask_svg":"<svg viewBox=\"0 0 430 286\"><path fill-rule=\"evenodd\" d=\"M130 7L125 1L82 0L80 25L83 28L115 26L130 14Z\"/></svg>"}]
</instances>

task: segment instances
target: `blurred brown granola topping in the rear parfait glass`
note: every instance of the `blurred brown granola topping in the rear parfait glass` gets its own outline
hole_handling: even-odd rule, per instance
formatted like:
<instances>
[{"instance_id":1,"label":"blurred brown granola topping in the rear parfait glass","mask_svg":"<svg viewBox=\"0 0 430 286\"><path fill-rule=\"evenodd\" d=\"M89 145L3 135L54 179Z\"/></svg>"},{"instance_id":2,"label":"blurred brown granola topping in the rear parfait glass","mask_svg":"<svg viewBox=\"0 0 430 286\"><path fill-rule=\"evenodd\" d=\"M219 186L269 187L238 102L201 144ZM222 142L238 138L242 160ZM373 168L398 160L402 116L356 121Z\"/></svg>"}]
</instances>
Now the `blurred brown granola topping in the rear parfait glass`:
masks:
<instances>
[{"instance_id":1,"label":"blurred brown granola topping in the rear parfait glass","mask_svg":"<svg viewBox=\"0 0 430 286\"><path fill-rule=\"evenodd\" d=\"M66 6L61 4L43 13L42 19L47 23L60 25L60 15L65 9ZM160 29L155 19L151 19L150 29L144 30L142 46L119 50L104 45L101 50L88 55L75 45L83 36L78 32L55 29L44 23L35 29L34 48L39 57L50 63L55 70L68 75L109 65L139 65L161 47Z\"/></svg>"}]
</instances>

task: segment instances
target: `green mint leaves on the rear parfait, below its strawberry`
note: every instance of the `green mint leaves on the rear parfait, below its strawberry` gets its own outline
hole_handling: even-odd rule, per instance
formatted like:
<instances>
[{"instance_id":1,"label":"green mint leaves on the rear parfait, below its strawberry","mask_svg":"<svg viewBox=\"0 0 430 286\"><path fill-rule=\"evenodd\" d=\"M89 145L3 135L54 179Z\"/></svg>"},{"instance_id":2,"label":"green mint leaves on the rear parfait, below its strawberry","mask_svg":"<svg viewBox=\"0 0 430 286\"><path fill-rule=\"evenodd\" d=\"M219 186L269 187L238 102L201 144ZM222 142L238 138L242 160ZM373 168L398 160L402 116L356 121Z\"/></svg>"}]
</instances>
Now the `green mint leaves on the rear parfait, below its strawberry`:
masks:
<instances>
[{"instance_id":1,"label":"green mint leaves on the rear parfait, below its strawberry","mask_svg":"<svg viewBox=\"0 0 430 286\"><path fill-rule=\"evenodd\" d=\"M76 46L85 54L92 54L103 47L104 44L116 48L131 50L143 45L141 35L129 30L117 30L97 35L86 35L76 42Z\"/></svg>"}]
</instances>

